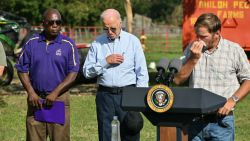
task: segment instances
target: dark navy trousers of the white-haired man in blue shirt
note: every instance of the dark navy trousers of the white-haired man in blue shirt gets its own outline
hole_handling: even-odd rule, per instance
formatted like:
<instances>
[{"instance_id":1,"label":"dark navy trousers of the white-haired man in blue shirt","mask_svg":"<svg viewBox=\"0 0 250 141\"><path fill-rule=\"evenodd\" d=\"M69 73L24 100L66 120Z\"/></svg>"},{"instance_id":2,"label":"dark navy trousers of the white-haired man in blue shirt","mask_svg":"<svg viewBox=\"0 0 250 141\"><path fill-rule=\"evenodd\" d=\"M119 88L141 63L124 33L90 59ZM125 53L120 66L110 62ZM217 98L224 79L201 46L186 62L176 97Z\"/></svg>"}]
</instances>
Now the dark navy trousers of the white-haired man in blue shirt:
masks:
<instances>
[{"instance_id":1,"label":"dark navy trousers of the white-haired man in blue shirt","mask_svg":"<svg viewBox=\"0 0 250 141\"><path fill-rule=\"evenodd\" d=\"M98 90L96 95L96 111L98 120L99 141L111 141L111 121L118 116L120 121L121 141L140 141L140 133L130 135L123 129L124 117L127 111L121 108L121 92L110 93Z\"/></svg>"}]
</instances>

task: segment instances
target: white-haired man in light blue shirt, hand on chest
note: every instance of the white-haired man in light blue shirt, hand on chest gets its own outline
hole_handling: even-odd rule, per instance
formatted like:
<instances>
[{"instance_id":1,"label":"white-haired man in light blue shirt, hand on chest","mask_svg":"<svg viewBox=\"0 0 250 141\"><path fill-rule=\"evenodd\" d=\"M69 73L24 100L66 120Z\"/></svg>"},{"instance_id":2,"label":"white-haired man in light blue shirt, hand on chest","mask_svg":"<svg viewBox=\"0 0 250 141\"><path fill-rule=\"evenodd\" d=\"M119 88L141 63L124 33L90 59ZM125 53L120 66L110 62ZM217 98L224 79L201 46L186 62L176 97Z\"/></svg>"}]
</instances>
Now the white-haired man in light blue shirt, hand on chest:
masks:
<instances>
[{"instance_id":1,"label":"white-haired man in light blue shirt, hand on chest","mask_svg":"<svg viewBox=\"0 0 250 141\"><path fill-rule=\"evenodd\" d=\"M121 126L127 111L121 108L124 87L148 87L148 71L140 40L122 30L117 10L101 14L104 33L91 44L83 66L85 77L97 76L96 110L100 141L111 140L111 121L118 116ZM123 129L123 128L121 128ZM139 141L140 132L121 131L122 141Z\"/></svg>"}]
</instances>

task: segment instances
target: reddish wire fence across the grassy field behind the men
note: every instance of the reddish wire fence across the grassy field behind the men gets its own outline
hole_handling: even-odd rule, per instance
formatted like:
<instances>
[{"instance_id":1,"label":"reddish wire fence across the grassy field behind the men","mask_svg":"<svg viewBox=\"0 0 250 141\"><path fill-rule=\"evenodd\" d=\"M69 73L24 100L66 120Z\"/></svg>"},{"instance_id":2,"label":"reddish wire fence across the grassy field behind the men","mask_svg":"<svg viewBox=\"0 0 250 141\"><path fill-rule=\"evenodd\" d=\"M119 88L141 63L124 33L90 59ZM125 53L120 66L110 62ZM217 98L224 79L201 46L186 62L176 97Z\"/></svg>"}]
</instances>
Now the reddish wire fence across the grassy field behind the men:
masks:
<instances>
[{"instance_id":1,"label":"reddish wire fence across the grassy field behind the men","mask_svg":"<svg viewBox=\"0 0 250 141\"><path fill-rule=\"evenodd\" d=\"M34 30L41 31L41 26L33 26ZM78 48L89 47L89 44L103 32L101 26L64 26L62 34L73 39ZM150 28L136 28L133 31L145 48L155 52L176 52L182 48L181 28L166 25Z\"/></svg>"}]
</instances>

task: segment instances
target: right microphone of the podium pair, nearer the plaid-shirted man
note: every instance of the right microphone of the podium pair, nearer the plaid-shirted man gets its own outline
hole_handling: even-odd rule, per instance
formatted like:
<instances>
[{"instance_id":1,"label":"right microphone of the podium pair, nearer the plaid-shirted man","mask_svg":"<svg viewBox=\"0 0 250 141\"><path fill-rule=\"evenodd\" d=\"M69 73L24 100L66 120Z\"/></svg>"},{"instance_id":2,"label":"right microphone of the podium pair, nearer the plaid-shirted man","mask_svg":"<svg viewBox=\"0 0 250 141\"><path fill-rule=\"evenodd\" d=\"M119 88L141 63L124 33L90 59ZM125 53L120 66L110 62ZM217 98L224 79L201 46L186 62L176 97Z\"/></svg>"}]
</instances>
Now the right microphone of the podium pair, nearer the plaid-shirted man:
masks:
<instances>
[{"instance_id":1,"label":"right microphone of the podium pair, nearer the plaid-shirted man","mask_svg":"<svg viewBox=\"0 0 250 141\"><path fill-rule=\"evenodd\" d=\"M173 82L174 75L180 71L182 66L182 61L180 59L173 59L169 64L169 74L167 76L167 84L169 85L170 82Z\"/></svg>"}]
</instances>

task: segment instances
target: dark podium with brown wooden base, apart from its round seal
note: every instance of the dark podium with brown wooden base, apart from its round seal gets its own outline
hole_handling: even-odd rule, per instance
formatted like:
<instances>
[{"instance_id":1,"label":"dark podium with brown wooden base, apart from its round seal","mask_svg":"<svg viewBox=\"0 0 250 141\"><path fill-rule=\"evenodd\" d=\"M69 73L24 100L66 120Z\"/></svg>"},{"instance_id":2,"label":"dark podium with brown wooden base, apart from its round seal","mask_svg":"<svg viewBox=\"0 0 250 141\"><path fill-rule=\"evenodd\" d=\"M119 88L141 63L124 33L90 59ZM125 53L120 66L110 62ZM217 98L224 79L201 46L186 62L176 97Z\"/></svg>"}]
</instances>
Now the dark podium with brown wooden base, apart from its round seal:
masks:
<instances>
[{"instance_id":1,"label":"dark podium with brown wooden base, apart from its round seal","mask_svg":"<svg viewBox=\"0 0 250 141\"><path fill-rule=\"evenodd\" d=\"M226 103L226 98L201 88L170 88L174 95L172 107L157 113L147 104L147 93L150 88L124 88L122 107L127 111L142 112L145 117L157 126L157 141L187 141L185 131L192 120L201 115L215 112Z\"/></svg>"}]
</instances>

